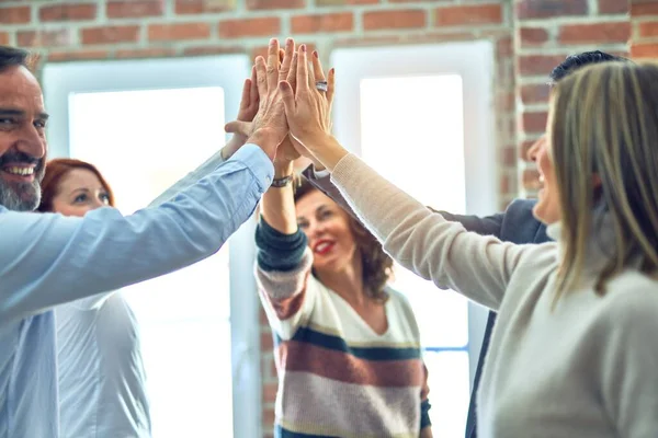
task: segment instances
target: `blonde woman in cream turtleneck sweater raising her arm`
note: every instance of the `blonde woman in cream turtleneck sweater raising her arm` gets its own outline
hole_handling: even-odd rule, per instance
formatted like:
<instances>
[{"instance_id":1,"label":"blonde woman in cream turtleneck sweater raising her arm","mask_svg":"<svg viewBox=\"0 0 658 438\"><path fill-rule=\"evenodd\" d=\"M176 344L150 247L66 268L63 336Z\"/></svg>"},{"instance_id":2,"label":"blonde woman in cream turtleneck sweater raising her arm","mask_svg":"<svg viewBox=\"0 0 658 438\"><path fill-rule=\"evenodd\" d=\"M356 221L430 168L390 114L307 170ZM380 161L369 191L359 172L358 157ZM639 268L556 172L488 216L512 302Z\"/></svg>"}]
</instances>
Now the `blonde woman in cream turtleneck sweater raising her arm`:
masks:
<instances>
[{"instance_id":1,"label":"blonde woman in cream turtleneck sweater raising her arm","mask_svg":"<svg viewBox=\"0 0 658 438\"><path fill-rule=\"evenodd\" d=\"M498 311L479 435L656 437L658 66L608 62L556 85L534 208L556 242L514 245L429 211L343 149L299 57L295 93L280 85L299 150L395 260Z\"/></svg>"}]
</instances>

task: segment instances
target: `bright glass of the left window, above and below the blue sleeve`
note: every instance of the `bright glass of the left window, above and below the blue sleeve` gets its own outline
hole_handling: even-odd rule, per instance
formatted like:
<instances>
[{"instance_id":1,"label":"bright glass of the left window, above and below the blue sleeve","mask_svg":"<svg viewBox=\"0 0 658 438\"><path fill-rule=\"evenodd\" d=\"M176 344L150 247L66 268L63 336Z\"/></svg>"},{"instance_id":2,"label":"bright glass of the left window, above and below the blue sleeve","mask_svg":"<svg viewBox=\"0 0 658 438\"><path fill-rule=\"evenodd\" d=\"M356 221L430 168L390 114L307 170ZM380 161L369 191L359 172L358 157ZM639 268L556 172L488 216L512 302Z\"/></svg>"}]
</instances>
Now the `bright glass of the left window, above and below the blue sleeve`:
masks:
<instances>
[{"instance_id":1,"label":"bright glass of the left window, above and below the blue sleeve","mask_svg":"<svg viewBox=\"0 0 658 438\"><path fill-rule=\"evenodd\" d=\"M124 214L224 139L222 88L79 93L69 105L71 157L98 165ZM140 324L154 436L232 436L228 245L124 290Z\"/></svg>"}]
</instances>

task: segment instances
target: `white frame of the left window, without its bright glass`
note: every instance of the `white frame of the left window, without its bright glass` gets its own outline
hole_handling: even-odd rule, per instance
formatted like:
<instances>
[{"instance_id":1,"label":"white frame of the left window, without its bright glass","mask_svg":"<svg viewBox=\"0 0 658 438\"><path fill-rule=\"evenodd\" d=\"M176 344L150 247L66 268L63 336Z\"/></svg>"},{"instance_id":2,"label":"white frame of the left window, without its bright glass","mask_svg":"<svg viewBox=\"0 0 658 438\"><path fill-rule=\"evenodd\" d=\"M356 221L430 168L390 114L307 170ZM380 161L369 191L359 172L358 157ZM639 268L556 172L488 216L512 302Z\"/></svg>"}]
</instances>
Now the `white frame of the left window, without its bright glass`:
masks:
<instances>
[{"instance_id":1,"label":"white frame of the left window, without its bright glass","mask_svg":"<svg viewBox=\"0 0 658 438\"><path fill-rule=\"evenodd\" d=\"M47 64L42 83L46 108L52 114L47 128L48 157L70 154L68 106L71 93L222 87L226 120L232 120L250 69L247 55ZM228 136L218 138L217 149L226 140ZM260 302L253 278L253 232L254 221L248 220L229 244L235 438L262 435ZM246 420L243 413L249 413L251 419Z\"/></svg>"}]
</instances>

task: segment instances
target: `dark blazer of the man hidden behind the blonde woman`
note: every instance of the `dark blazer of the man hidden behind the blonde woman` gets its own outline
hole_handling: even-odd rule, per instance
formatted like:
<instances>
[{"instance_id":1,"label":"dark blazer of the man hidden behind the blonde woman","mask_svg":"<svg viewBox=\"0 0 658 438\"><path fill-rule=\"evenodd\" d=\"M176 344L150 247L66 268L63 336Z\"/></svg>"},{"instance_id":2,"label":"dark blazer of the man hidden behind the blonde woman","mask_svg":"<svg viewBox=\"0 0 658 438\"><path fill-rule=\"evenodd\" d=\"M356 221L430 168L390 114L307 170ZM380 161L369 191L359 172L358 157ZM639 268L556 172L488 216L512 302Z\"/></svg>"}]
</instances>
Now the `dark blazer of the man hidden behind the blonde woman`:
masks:
<instances>
[{"instance_id":1,"label":"dark blazer of the man hidden behind the blonde woman","mask_svg":"<svg viewBox=\"0 0 658 438\"><path fill-rule=\"evenodd\" d=\"M307 168L303 174L308 178L311 185L332 198L350 215L356 217L354 211L352 211L352 208L340 194L339 189L331 184L329 176L316 178L310 166ZM536 220L534 216L532 216L532 208L535 203L536 201L532 199L517 199L509 205L504 212L487 216L485 218L477 216L452 215L447 211L439 212L445 219L450 221L462 222L466 230L476 232L478 234L495 235L500 240L514 243L543 243L548 241L548 237L546 235L546 227ZM480 349L477 370L475 372L475 380L473 382L473 391L470 393L468 419L466 422L466 438L477 437L475 401L495 323L496 313L489 312L487 326L485 328L485 337L483 339L483 347Z\"/></svg>"}]
</instances>

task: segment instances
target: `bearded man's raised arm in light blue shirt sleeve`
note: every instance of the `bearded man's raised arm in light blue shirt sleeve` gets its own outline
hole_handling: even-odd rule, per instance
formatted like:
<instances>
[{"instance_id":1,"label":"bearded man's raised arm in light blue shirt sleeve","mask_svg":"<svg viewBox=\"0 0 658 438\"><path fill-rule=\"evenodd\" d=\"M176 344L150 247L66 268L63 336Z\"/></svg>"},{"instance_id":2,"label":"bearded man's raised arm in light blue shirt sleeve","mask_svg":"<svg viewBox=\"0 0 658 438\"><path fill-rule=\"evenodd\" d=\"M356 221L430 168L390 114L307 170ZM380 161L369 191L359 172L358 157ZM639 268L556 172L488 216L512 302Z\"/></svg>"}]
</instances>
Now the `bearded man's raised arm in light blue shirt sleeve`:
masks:
<instances>
[{"instance_id":1,"label":"bearded man's raised arm in light blue shirt sleeve","mask_svg":"<svg viewBox=\"0 0 658 438\"><path fill-rule=\"evenodd\" d=\"M173 201L123 217L0 215L0 321L117 289L195 263L252 214L272 165L254 147ZM27 244L38 242L38 245Z\"/></svg>"}]
</instances>

